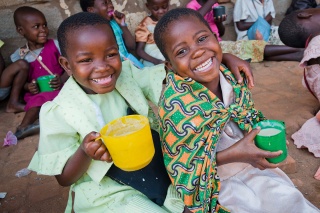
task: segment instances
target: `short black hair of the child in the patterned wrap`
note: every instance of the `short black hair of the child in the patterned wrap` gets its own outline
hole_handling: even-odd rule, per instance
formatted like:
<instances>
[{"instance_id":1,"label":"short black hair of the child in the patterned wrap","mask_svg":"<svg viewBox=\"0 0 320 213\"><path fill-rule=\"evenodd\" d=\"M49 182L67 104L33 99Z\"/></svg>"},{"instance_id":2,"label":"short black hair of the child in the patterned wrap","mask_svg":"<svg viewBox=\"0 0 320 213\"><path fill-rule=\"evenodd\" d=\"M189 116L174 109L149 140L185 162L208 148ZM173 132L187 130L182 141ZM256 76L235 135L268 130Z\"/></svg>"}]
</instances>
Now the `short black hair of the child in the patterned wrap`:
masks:
<instances>
[{"instance_id":1,"label":"short black hair of the child in the patterned wrap","mask_svg":"<svg viewBox=\"0 0 320 213\"><path fill-rule=\"evenodd\" d=\"M203 18L203 16L196 10L192 10L189 8L176 8L169 10L156 24L156 27L154 29L154 40L164 56L166 60L168 60L168 55L165 51L165 44L166 41L164 39L165 35L167 34L167 29L169 25L173 22L179 22L179 20L183 17L193 17L198 19L200 22L202 22L205 26L208 27L208 29L211 31L211 28L208 24L208 22Z\"/></svg>"}]
</instances>

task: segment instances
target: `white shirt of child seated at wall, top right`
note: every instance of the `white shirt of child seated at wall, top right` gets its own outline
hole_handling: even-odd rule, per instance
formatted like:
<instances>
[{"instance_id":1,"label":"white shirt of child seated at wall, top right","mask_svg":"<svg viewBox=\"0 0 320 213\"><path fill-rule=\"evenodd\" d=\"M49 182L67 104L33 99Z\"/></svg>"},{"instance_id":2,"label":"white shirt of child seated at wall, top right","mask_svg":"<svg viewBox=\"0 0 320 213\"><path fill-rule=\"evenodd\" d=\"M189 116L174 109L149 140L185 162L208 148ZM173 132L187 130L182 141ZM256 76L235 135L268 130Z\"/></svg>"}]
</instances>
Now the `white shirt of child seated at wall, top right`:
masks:
<instances>
[{"instance_id":1,"label":"white shirt of child seated at wall, top right","mask_svg":"<svg viewBox=\"0 0 320 213\"><path fill-rule=\"evenodd\" d=\"M272 0L265 0L264 5L260 0L237 0L233 10L233 21L237 33L237 40L248 40L248 36L247 30L238 30L236 22L241 20L245 20L245 22L255 22L258 16L265 18L270 12L272 18L275 18L276 12Z\"/></svg>"}]
</instances>

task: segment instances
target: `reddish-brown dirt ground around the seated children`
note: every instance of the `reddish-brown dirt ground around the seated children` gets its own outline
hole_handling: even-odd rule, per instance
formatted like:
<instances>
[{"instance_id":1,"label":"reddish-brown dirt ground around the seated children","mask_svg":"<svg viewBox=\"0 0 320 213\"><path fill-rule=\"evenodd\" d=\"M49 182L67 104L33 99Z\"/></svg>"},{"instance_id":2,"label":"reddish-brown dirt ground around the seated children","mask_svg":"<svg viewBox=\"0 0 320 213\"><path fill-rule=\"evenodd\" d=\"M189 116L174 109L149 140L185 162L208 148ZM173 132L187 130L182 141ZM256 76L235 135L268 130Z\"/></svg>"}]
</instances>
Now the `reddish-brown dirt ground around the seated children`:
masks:
<instances>
[{"instance_id":1,"label":"reddish-brown dirt ground around the seated children","mask_svg":"<svg viewBox=\"0 0 320 213\"><path fill-rule=\"evenodd\" d=\"M252 64L256 107L269 119L283 120L287 127L289 155L295 160L296 172L289 172L296 187L320 208L320 181L313 178L320 159L307 150L297 149L291 135L319 110L319 103L301 85L302 70L297 62L263 62ZM0 212L63 212L68 188L53 177L31 174L18 178L16 172L26 168L35 152L38 135L20 140L16 146L2 147L7 131L15 131L23 113L5 113L0 103ZM281 199L281 198L279 198ZM302 210L303 212L303 210Z\"/></svg>"}]
</instances>

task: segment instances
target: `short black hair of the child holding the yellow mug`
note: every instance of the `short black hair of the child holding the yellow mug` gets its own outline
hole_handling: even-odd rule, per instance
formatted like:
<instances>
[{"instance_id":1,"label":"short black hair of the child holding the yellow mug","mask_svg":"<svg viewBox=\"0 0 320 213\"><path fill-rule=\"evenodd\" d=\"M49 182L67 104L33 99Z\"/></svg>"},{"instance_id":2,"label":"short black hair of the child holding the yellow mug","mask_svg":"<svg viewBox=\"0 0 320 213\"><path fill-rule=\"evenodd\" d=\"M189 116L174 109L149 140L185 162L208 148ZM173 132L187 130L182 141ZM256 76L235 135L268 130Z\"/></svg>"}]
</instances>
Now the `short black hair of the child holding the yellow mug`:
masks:
<instances>
[{"instance_id":1,"label":"short black hair of the child holding the yellow mug","mask_svg":"<svg viewBox=\"0 0 320 213\"><path fill-rule=\"evenodd\" d=\"M74 33L81 28L91 27L98 24L108 25L112 31L109 21L95 13L80 12L65 19L60 24L57 32L61 55L67 57L66 48L68 46L68 34Z\"/></svg>"}]
</instances>

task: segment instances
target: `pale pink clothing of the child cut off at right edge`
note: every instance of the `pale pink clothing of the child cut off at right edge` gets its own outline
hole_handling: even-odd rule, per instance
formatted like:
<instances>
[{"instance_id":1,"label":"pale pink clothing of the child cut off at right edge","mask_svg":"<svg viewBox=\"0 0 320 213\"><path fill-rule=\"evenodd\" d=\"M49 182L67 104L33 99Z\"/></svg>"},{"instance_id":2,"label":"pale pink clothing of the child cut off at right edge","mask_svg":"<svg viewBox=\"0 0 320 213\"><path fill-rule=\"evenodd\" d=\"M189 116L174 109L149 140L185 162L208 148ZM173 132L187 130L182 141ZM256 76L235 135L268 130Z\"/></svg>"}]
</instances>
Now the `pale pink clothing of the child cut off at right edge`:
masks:
<instances>
[{"instance_id":1,"label":"pale pink clothing of the child cut off at right edge","mask_svg":"<svg viewBox=\"0 0 320 213\"><path fill-rule=\"evenodd\" d=\"M320 57L320 36L312 38L300 62L300 66L306 69L306 80L310 90L320 101L320 65L307 66L310 59L318 57ZM306 87L304 79L302 84ZM316 117L307 120L291 137L298 148L307 148L315 157L320 157L320 122Z\"/></svg>"}]
</instances>

